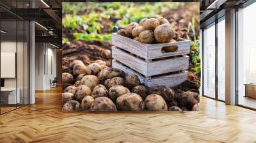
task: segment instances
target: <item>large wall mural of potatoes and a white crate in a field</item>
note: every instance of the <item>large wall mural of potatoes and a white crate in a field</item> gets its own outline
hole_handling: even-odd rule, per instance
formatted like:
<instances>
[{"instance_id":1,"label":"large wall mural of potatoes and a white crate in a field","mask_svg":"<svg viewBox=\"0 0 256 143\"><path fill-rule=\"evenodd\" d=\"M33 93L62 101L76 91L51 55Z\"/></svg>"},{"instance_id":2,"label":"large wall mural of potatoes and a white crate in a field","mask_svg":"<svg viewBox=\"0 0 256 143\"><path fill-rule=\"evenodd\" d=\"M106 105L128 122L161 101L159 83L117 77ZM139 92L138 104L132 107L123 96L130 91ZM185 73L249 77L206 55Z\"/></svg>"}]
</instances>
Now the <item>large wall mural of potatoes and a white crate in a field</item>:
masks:
<instances>
[{"instance_id":1,"label":"large wall mural of potatoes and a white crate in a field","mask_svg":"<svg viewBox=\"0 0 256 143\"><path fill-rule=\"evenodd\" d=\"M199 3L63 3L63 111L199 110Z\"/></svg>"}]
</instances>

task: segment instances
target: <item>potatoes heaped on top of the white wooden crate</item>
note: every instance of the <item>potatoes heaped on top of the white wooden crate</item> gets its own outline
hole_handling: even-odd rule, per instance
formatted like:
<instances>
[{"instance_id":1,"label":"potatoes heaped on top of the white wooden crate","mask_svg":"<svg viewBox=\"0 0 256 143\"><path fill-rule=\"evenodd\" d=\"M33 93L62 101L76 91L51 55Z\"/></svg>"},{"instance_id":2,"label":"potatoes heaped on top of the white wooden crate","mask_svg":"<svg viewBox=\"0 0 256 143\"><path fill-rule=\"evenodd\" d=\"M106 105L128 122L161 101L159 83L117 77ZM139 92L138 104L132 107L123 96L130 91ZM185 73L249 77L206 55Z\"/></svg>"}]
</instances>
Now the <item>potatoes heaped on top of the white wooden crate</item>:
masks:
<instances>
[{"instance_id":1,"label":"potatoes heaped on top of the white wooden crate","mask_svg":"<svg viewBox=\"0 0 256 143\"><path fill-rule=\"evenodd\" d=\"M125 29L118 30L118 34L147 44L184 41L177 36L171 24L163 17L144 18L139 24L131 22Z\"/></svg>"}]
</instances>

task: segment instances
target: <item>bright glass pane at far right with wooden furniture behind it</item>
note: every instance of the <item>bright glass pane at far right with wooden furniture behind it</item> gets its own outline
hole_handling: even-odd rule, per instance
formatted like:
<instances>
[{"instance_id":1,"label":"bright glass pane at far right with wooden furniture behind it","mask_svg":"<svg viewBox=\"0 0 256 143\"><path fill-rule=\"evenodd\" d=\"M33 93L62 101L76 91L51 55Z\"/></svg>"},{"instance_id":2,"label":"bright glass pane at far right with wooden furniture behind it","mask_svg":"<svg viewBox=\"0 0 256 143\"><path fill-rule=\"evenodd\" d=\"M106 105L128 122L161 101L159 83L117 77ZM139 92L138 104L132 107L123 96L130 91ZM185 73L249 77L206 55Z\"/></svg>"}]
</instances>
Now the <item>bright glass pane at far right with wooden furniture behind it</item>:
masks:
<instances>
[{"instance_id":1,"label":"bright glass pane at far right with wooden furniture behind it","mask_svg":"<svg viewBox=\"0 0 256 143\"><path fill-rule=\"evenodd\" d=\"M237 11L237 103L256 109L256 3Z\"/></svg>"}]
</instances>

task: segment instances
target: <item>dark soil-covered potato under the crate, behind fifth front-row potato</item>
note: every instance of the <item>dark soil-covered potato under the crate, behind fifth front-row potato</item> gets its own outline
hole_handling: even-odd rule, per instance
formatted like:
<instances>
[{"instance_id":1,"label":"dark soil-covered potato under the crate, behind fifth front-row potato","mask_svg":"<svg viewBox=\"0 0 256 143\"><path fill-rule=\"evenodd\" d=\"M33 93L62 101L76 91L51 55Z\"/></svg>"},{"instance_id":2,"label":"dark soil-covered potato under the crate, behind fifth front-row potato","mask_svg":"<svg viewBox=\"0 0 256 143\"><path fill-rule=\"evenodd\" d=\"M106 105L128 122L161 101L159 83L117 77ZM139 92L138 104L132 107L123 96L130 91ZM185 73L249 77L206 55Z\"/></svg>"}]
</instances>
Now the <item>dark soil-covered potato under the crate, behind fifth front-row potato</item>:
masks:
<instances>
[{"instance_id":1,"label":"dark soil-covered potato under the crate, behind fifth front-row potato","mask_svg":"<svg viewBox=\"0 0 256 143\"><path fill-rule=\"evenodd\" d=\"M166 103L174 101L174 91L168 86L154 86L148 89L148 94L159 94Z\"/></svg>"}]
</instances>

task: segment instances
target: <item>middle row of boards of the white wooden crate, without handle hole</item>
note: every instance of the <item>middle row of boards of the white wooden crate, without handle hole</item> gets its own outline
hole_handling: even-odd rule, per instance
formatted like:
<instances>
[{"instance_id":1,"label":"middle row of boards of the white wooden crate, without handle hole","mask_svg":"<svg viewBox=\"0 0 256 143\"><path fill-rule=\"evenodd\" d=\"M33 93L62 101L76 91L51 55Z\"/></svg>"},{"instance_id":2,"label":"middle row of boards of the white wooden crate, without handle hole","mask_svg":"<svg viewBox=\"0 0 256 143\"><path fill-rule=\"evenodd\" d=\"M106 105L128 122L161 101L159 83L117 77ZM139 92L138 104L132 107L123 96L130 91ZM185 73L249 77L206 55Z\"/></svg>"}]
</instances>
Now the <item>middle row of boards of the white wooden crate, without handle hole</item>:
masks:
<instances>
[{"instance_id":1,"label":"middle row of boards of the white wooden crate, without handle hole","mask_svg":"<svg viewBox=\"0 0 256 143\"><path fill-rule=\"evenodd\" d=\"M112 47L112 57L145 77L177 72L189 68L189 56L172 56L161 59L143 59L126 50Z\"/></svg>"}]
</instances>

